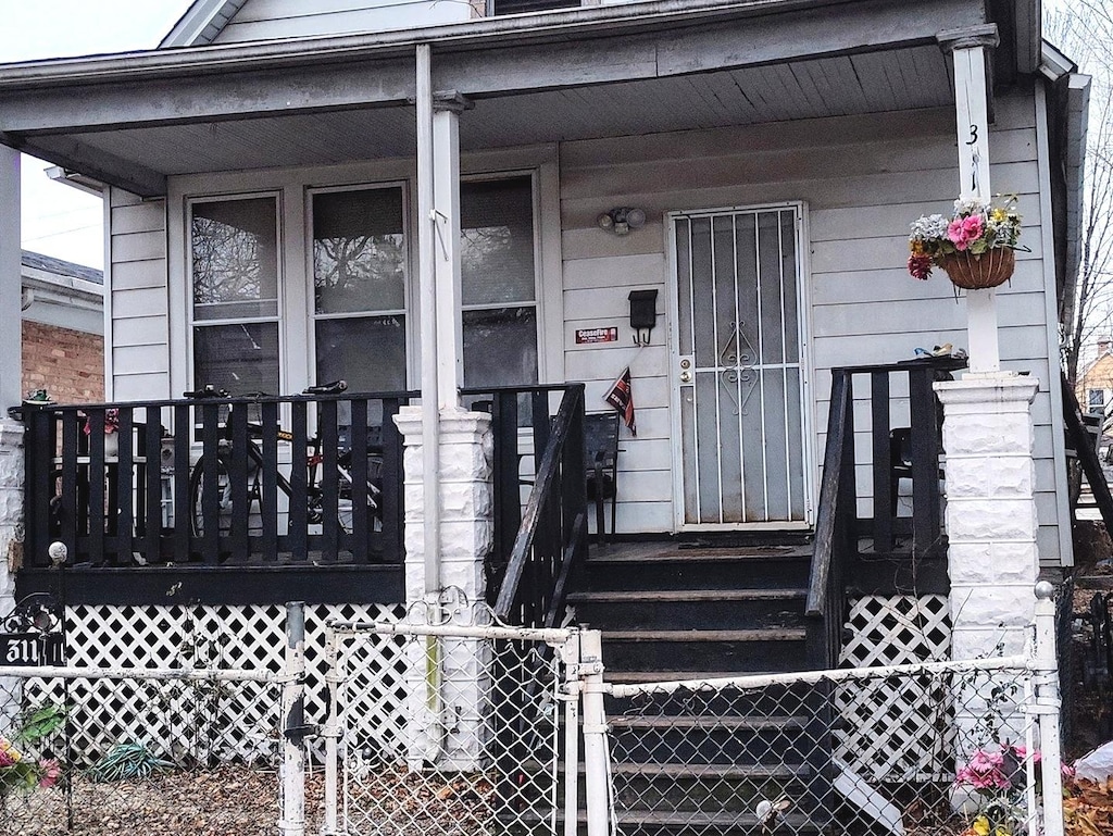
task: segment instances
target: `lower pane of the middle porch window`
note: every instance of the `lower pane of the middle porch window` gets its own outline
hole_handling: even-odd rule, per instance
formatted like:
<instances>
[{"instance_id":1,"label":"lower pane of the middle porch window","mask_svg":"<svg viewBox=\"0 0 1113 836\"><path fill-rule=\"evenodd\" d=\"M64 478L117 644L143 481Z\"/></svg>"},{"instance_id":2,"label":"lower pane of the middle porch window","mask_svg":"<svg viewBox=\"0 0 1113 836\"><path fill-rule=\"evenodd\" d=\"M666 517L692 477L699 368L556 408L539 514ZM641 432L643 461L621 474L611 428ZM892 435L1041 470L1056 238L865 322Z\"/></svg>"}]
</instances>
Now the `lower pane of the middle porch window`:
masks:
<instances>
[{"instance_id":1,"label":"lower pane of the middle porch window","mask_svg":"<svg viewBox=\"0 0 1113 836\"><path fill-rule=\"evenodd\" d=\"M317 383L347 381L348 392L406 387L403 316L317 321Z\"/></svg>"}]
</instances>

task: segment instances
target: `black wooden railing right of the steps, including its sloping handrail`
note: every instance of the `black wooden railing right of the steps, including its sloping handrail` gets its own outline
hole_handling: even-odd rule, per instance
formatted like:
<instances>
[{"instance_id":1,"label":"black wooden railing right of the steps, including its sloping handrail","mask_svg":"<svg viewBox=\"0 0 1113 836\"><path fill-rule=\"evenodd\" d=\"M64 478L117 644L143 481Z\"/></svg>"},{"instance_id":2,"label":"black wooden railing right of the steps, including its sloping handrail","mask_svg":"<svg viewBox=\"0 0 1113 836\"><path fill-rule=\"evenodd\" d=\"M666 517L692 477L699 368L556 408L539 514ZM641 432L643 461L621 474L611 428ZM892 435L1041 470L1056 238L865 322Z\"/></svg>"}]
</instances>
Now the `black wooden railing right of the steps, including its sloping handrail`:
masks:
<instances>
[{"instance_id":1,"label":"black wooden railing right of the steps, including its sloping handrail","mask_svg":"<svg viewBox=\"0 0 1113 836\"><path fill-rule=\"evenodd\" d=\"M965 361L933 358L892 365L831 370L830 411L824 451L823 482L816 519L815 554L808 589L808 646L811 665L838 663L847 586L859 558L885 562L886 572L899 563L943 558L942 410L932 384L949 380ZM869 383L868 427L855 416L855 382ZM893 425L893 400L907 401L908 426ZM868 444L858 444L864 439ZM868 468L873 491L869 515L858 512L858 472ZM912 481L912 512L900 482ZM855 578L859 583L863 579ZM929 591L929 590L922 590Z\"/></svg>"}]
</instances>

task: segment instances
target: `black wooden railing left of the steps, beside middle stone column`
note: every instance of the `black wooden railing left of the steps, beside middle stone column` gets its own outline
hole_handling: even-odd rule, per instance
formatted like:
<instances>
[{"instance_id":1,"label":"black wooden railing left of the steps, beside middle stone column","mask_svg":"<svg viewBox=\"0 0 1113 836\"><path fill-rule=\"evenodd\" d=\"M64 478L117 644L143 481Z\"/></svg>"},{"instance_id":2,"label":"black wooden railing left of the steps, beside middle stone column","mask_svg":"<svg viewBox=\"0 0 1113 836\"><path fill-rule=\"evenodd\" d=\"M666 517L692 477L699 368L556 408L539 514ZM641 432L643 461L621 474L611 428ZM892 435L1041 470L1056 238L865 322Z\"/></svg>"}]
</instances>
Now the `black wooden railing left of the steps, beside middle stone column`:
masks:
<instances>
[{"instance_id":1,"label":"black wooden railing left of the steps, beside middle stone column","mask_svg":"<svg viewBox=\"0 0 1113 836\"><path fill-rule=\"evenodd\" d=\"M494 435L487 598L508 623L553 627L563 614L569 578L588 548L583 384L464 394L475 407L491 410ZM553 415L556 394L561 401Z\"/></svg>"}]
</instances>

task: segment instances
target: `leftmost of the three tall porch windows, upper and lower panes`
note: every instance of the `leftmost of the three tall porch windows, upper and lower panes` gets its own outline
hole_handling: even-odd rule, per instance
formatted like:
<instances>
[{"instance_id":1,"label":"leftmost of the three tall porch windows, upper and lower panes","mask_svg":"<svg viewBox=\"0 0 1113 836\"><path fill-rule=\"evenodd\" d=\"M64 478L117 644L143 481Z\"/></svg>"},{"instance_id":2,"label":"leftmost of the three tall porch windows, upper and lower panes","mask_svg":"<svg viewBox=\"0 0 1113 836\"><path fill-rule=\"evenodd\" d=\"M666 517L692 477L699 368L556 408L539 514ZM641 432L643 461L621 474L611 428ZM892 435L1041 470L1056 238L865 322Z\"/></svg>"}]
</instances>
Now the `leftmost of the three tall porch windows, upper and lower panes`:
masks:
<instances>
[{"instance_id":1,"label":"leftmost of the three tall porch windows, upper and lower panes","mask_svg":"<svg viewBox=\"0 0 1113 836\"><path fill-rule=\"evenodd\" d=\"M277 393L278 200L190 205L194 385Z\"/></svg>"}]
</instances>

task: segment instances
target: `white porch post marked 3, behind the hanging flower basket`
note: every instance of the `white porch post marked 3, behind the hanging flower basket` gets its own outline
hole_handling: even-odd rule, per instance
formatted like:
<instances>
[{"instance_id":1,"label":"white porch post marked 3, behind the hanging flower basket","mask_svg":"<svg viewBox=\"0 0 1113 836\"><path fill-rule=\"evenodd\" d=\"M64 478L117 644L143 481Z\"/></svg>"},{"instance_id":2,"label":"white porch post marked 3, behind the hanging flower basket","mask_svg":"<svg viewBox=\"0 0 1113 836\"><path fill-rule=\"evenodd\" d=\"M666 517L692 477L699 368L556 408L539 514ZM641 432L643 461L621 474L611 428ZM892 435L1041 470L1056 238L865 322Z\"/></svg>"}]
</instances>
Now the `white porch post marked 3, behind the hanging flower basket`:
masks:
<instances>
[{"instance_id":1,"label":"white porch post marked 3, behind the hanging flower basket","mask_svg":"<svg viewBox=\"0 0 1113 836\"><path fill-rule=\"evenodd\" d=\"M999 42L995 23L939 32L955 70L955 121L958 131L958 195L988 200L989 187L989 49ZM996 291L966 292L971 372L1001 368Z\"/></svg>"}]
</instances>

